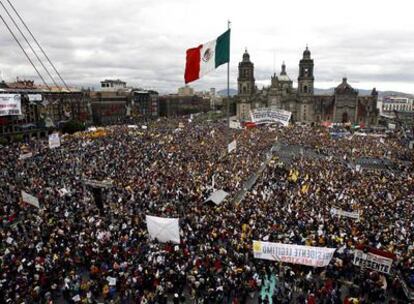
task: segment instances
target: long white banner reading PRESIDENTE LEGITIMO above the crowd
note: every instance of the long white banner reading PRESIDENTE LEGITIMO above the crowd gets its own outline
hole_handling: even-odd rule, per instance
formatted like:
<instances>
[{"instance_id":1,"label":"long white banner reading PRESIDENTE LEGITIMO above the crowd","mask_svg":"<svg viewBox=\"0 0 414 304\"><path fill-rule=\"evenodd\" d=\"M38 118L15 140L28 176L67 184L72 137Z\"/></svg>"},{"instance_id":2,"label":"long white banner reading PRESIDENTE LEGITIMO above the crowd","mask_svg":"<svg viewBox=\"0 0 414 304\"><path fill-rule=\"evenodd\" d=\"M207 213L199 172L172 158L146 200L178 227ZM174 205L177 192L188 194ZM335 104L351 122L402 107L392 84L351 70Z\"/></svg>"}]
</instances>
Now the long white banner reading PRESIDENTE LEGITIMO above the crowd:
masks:
<instances>
[{"instance_id":1,"label":"long white banner reading PRESIDENTE LEGITIMO above the crowd","mask_svg":"<svg viewBox=\"0 0 414 304\"><path fill-rule=\"evenodd\" d=\"M313 267L327 266L335 250L336 248L253 241L253 255L256 259Z\"/></svg>"}]
</instances>

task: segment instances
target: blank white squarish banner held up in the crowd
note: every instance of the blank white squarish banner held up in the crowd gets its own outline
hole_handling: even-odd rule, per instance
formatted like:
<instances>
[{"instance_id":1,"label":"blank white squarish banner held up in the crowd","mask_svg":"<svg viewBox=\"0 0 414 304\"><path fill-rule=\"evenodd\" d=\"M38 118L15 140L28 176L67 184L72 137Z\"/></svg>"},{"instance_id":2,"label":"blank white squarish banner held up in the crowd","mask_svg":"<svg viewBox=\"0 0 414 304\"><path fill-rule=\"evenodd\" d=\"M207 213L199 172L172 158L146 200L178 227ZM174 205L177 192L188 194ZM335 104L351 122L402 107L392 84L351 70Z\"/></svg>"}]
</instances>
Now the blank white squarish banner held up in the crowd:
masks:
<instances>
[{"instance_id":1,"label":"blank white squarish banner held up in the crowd","mask_svg":"<svg viewBox=\"0 0 414 304\"><path fill-rule=\"evenodd\" d=\"M180 243L180 228L178 218L165 218L158 216L145 216L147 229L151 239L160 242Z\"/></svg>"}]
</instances>

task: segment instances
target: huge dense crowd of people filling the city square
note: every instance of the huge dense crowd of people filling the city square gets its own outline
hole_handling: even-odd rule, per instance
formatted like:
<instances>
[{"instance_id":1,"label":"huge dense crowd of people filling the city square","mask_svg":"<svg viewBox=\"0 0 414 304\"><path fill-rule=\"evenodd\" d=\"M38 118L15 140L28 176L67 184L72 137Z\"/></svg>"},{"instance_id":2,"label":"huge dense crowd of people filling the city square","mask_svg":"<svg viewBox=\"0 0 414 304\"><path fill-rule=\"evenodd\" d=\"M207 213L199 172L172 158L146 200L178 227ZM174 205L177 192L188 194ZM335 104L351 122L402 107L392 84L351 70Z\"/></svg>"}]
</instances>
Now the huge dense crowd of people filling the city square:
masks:
<instances>
[{"instance_id":1,"label":"huge dense crowd of people filling the city square","mask_svg":"<svg viewBox=\"0 0 414 304\"><path fill-rule=\"evenodd\" d=\"M228 154L229 136L237 148ZM284 163L277 151L268 157L276 143L305 152ZM310 126L228 134L223 121L160 119L24 149L33 156L1 147L4 303L407 303L402 281L414 287L414 155L397 132L333 140ZM359 157L395 166L356 170ZM103 210L86 180L112 181ZM229 193L219 205L205 202L214 189ZM180 243L152 240L146 215L178 217ZM312 268L255 259L253 240L337 250ZM391 274L353 265L360 245L395 255Z\"/></svg>"}]
</instances>

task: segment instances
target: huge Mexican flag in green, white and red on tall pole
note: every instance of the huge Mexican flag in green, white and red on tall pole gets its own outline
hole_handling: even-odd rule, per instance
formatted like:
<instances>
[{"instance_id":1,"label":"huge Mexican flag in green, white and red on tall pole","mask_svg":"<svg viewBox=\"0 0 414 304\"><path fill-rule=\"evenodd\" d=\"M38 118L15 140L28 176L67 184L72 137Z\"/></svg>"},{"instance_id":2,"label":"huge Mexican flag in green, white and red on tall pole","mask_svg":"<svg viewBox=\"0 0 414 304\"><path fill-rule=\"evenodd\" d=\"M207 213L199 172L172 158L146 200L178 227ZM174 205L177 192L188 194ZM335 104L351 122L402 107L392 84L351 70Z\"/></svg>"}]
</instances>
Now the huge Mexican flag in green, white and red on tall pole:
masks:
<instances>
[{"instance_id":1,"label":"huge Mexican flag in green, white and red on tall pole","mask_svg":"<svg viewBox=\"0 0 414 304\"><path fill-rule=\"evenodd\" d=\"M197 80L230 61L230 29L217 39L187 50L185 83Z\"/></svg>"}]
</instances>

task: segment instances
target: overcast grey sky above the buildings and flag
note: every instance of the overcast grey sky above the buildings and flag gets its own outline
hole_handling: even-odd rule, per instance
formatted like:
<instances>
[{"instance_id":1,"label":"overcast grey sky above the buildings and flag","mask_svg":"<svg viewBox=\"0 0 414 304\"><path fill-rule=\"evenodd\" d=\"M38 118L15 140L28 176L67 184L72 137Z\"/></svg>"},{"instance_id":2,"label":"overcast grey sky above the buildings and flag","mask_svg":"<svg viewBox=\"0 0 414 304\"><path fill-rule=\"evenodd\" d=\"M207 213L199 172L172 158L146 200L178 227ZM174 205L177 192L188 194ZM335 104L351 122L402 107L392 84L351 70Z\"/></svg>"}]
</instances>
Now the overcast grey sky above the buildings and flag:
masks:
<instances>
[{"instance_id":1,"label":"overcast grey sky above the buildings and flag","mask_svg":"<svg viewBox=\"0 0 414 304\"><path fill-rule=\"evenodd\" d=\"M233 88L245 47L260 88L270 83L273 72L280 72L282 61L296 85L299 60L308 44L317 88L336 86L345 76L355 88L414 93L414 4L410 0L13 3L72 86L98 87L105 78L120 78L131 86L175 92L184 84L185 50L216 38L230 19ZM4 17L2 7L0 12ZM39 82L2 23L0 71L6 80L18 76ZM192 86L225 88L225 65Z\"/></svg>"}]
</instances>

